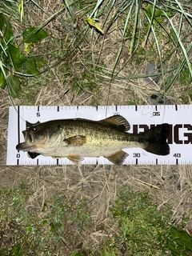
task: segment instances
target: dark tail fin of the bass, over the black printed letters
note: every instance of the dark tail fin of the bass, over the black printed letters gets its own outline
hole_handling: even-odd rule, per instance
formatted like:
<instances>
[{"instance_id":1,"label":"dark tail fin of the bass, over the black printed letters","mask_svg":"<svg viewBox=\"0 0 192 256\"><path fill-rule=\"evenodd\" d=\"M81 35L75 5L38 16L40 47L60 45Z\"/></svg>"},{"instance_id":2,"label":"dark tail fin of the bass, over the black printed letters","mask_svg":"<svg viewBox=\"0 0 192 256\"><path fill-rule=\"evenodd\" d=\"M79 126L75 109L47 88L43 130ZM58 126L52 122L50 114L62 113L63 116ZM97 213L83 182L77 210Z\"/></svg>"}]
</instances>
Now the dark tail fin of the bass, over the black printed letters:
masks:
<instances>
[{"instance_id":1,"label":"dark tail fin of the bass, over the black printed letters","mask_svg":"<svg viewBox=\"0 0 192 256\"><path fill-rule=\"evenodd\" d=\"M143 147L147 152L167 155L170 154L170 146L166 142L170 134L170 126L167 123L155 126L144 133L146 136L146 145Z\"/></svg>"}]
</instances>

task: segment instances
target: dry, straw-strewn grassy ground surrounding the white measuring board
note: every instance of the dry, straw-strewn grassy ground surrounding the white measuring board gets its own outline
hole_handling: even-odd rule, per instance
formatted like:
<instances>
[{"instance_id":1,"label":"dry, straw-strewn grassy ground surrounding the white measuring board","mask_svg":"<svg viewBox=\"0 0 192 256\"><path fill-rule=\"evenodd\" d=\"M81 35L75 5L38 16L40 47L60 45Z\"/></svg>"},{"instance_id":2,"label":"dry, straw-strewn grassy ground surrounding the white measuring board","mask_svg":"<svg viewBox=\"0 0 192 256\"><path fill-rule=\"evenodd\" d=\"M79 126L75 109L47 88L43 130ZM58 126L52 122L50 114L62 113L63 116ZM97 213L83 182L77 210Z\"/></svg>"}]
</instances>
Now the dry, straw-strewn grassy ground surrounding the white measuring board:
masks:
<instances>
[{"instance_id":1,"label":"dry, straw-strewn grassy ground surrounding the white measuring board","mask_svg":"<svg viewBox=\"0 0 192 256\"><path fill-rule=\"evenodd\" d=\"M185 12L176 3L166 10L170 22L147 1L142 6L137 1L134 6L106 1L94 12L96 3L26 2L22 23L20 14L16 15L18 9L11 6L15 7L15 44L22 42L22 31L28 26L42 26L49 36L30 44L31 51L25 52L27 57L45 59L45 65L38 68L42 71L39 76L24 79L17 74L23 96L11 98L7 86L0 90L0 255L171 255L166 249L173 238L171 224L192 234L191 166L82 166L83 178L76 166L6 166L8 110L13 102L50 106L191 104L190 64L184 54L186 50L190 56L190 1L183 2ZM158 10L169 6L168 1L156 4ZM131 8L135 9L130 12ZM154 26L150 28L151 17ZM178 29L182 44L170 24ZM20 47L24 52L26 45ZM142 199L134 194L131 201L125 192L120 193L131 194L130 189L148 191L150 202L146 194ZM133 211L137 218L132 220L123 206L134 209L137 202L144 210L138 208L140 216ZM169 214L166 204L170 204ZM154 216L158 222L148 222L146 216ZM133 231L137 241L129 233L131 225L138 230ZM169 235L158 242L161 232ZM175 255L191 255L190 250L185 254L187 248L178 246Z\"/></svg>"}]
</instances>

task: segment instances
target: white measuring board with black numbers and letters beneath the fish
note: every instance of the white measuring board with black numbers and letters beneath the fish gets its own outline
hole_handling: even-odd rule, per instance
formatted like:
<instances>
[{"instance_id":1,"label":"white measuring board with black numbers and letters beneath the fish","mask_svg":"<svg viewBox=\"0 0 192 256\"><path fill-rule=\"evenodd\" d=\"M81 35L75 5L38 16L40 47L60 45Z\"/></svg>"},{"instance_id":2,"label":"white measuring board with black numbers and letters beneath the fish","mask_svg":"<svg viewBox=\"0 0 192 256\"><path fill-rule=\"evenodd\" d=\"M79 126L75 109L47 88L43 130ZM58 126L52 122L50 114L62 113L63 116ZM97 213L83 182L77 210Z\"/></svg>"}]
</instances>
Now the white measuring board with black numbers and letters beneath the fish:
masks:
<instances>
[{"instance_id":1,"label":"white measuring board with black numbers and letters beneath the fish","mask_svg":"<svg viewBox=\"0 0 192 256\"><path fill-rule=\"evenodd\" d=\"M17 111L16 111L17 110ZM170 154L159 156L140 148L123 149L129 156L125 165L190 165L192 163L192 114L191 105L158 106L10 106L7 165L71 165L67 158L51 158L39 155L31 159L26 152L16 150L24 142L22 130L26 123L47 122L54 119L86 118L101 120L120 114L130 122L129 133L141 133L154 125L169 123L167 142ZM82 165L110 165L106 158L84 158Z\"/></svg>"}]
</instances>

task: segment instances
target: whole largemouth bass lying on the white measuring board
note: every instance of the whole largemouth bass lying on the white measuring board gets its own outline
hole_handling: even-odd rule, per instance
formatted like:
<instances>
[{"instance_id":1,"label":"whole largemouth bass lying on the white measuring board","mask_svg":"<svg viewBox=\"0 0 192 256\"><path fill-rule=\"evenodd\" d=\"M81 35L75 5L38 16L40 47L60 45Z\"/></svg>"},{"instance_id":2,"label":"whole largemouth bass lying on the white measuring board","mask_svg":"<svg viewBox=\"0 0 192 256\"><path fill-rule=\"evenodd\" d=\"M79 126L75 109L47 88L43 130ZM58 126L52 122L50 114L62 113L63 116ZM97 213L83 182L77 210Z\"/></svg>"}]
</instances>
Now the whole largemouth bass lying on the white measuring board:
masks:
<instances>
[{"instance_id":1,"label":"whole largemouth bass lying on the white measuring board","mask_svg":"<svg viewBox=\"0 0 192 256\"><path fill-rule=\"evenodd\" d=\"M42 122L23 130L25 142L16 146L27 151L31 158L38 154L53 158L69 158L80 166L84 157L107 158L122 164L128 154L122 149L140 147L150 153L166 155L170 126L166 123L141 134L129 134L130 124L121 115L100 121L82 118Z\"/></svg>"}]
</instances>

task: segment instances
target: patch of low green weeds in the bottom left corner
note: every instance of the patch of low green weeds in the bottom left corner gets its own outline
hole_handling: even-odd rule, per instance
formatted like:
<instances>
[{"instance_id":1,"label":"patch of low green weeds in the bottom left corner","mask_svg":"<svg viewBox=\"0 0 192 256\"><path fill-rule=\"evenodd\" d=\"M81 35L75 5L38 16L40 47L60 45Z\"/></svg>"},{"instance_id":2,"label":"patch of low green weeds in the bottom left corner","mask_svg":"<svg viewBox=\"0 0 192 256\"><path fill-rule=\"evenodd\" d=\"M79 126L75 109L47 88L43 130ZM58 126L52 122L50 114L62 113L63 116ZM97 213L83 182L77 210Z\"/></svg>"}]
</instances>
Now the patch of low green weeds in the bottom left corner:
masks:
<instances>
[{"instance_id":1,"label":"patch of low green weeds in the bottom left corner","mask_svg":"<svg viewBox=\"0 0 192 256\"><path fill-rule=\"evenodd\" d=\"M41 210L30 206L30 196L25 182L0 190L0 255L67 254L90 226L86 201L71 202L61 194Z\"/></svg>"}]
</instances>

